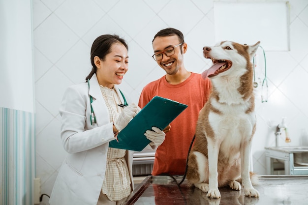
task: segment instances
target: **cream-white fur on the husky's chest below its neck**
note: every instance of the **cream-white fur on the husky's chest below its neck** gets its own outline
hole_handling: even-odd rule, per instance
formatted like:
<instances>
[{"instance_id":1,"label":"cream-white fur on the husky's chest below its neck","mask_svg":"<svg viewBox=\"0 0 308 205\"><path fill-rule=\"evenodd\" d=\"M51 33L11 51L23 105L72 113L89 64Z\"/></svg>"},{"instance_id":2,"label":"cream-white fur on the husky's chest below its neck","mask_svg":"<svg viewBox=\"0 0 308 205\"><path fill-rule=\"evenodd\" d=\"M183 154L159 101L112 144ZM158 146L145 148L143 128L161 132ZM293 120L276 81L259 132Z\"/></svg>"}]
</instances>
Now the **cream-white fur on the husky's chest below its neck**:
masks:
<instances>
[{"instance_id":1,"label":"cream-white fur on the husky's chest below its neck","mask_svg":"<svg viewBox=\"0 0 308 205\"><path fill-rule=\"evenodd\" d=\"M227 82L228 80L228 82ZM219 81L221 81L219 79ZM236 81L236 80L234 80ZM216 139L221 141L220 153L226 155L237 154L240 146L251 136L255 125L253 107L253 93L247 99L239 93L239 82L226 79L214 87L213 93L206 107L209 109L208 122L205 128L213 130ZM212 81L215 84L215 80ZM217 91L219 90L219 91ZM207 133L210 130L205 130ZM207 137L212 137L207 135Z\"/></svg>"}]
</instances>

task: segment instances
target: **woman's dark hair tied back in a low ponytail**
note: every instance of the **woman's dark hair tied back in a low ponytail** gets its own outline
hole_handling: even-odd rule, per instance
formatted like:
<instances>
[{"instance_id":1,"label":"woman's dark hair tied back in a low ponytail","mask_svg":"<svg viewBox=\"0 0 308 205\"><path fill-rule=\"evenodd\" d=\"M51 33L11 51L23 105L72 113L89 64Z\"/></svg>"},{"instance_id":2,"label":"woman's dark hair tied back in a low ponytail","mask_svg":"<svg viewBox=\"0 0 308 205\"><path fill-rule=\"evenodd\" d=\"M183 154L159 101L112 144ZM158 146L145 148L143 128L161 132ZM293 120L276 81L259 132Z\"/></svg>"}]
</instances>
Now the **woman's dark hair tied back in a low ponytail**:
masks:
<instances>
[{"instance_id":1,"label":"woman's dark hair tied back in a low ponytail","mask_svg":"<svg viewBox=\"0 0 308 205\"><path fill-rule=\"evenodd\" d=\"M118 35L111 35L111 34L105 34L98 36L91 48L91 64L92 64L92 70L90 74L86 78L86 82L96 73L97 67L94 63L94 57L97 56L98 58L105 60L106 56L111 52L111 47L115 43L122 43L125 48L128 51L128 45L126 41L123 38L120 38Z\"/></svg>"}]
</instances>

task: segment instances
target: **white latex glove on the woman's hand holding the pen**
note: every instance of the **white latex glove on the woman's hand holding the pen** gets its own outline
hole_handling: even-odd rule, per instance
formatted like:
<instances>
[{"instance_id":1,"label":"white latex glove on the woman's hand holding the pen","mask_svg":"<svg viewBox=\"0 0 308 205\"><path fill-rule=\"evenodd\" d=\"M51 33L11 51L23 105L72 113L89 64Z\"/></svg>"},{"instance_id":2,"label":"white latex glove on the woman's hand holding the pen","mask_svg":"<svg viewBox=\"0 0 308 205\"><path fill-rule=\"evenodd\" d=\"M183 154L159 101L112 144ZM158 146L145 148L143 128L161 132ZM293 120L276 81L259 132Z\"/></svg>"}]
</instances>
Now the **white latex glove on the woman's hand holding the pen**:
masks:
<instances>
[{"instance_id":1,"label":"white latex glove on the woman's hand holding the pen","mask_svg":"<svg viewBox=\"0 0 308 205\"><path fill-rule=\"evenodd\" d=\"M141 109L134 103L124 107L122 113L113 123L120 132L128 124L128 122L139 113Z\"/></svg>"}]
</instances>

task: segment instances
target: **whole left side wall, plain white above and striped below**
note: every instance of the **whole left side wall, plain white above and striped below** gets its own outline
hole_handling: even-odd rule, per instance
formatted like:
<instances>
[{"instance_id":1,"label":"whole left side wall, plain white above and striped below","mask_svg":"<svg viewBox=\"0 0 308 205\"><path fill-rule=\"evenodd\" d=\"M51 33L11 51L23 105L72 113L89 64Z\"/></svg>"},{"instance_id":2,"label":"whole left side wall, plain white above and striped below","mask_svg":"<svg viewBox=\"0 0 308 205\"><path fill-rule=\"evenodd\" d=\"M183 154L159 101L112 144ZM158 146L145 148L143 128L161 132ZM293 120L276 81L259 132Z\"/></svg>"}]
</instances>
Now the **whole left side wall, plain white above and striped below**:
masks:
<instances>
[{"instance_id":1,"label":"whole left side wall, plain white above and striped below","mask_svg":"<svg viewBox=\"0 0 308 205\"><path fill-rule=\"evenodd\" d=\"M0 0L0 204L33 205L32 1Z\"/></svg>"}]
</instances>

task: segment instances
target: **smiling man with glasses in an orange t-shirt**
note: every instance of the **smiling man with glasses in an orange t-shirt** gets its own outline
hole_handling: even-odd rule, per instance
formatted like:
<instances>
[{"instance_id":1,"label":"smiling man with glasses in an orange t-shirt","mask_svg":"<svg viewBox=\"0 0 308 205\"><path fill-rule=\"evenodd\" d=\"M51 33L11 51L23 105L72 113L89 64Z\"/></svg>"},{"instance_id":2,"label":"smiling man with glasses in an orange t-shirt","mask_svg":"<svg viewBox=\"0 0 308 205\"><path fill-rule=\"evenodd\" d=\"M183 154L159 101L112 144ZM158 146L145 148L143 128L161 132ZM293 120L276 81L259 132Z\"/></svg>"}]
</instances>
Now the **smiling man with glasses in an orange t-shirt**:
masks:
<instances>
[{"instance_id":1,"label":"smiling man with glasses in an orange t-shirt","mask_svg":"<svg viewBox=\"0 0 308 205\"><path fill-rule=\"evenodd\" d=\"M166 138L156 149L152 175L184 175L199 111L208 100L212 86L208 78L204 80L201 74L185 69L187 44L180 30L162 29L156 33L152 43L153 59L165 70L166 75L143 88L139 107L146 106L156 95L188 105L164 129Z\"/></svg>"}]
</instances>

